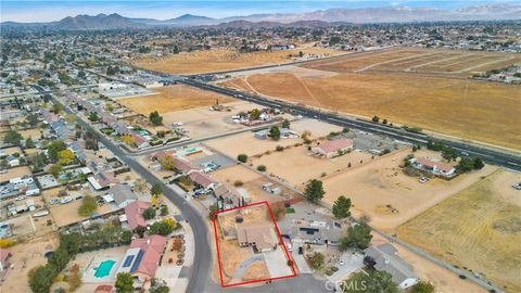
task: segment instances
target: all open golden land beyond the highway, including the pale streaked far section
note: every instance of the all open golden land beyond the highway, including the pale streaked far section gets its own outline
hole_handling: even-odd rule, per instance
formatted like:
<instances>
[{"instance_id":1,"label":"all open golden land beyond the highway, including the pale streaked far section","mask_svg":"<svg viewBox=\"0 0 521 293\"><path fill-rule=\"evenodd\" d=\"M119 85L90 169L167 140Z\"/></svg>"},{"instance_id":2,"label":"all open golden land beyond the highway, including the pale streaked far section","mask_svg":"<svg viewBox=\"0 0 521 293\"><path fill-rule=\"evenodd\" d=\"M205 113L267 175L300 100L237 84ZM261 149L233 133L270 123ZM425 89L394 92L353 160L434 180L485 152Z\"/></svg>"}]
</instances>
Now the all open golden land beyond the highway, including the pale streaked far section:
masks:
<instances>
[{"instance_id":1,"label":"all open golden land beyond the highway, including the pale streaked far section","mask_svg":"<svg viewBox=\"0 0 521 293\"><path fill-rule=\"evenodd\" d=\"M420 53L423 51L430 58ZM338 73L334 76L300 77L289 69L246 75L221 85L368 118L378 115L393 124L519 150L517 97L521 97L521 88L466 77L511 65L520 58L469 54L474 53L420 49L371 52L303 65ZM428 72L428 66L443 69ZM465 76L458 76L461 74Z\"/></svg>"}]
</instances>

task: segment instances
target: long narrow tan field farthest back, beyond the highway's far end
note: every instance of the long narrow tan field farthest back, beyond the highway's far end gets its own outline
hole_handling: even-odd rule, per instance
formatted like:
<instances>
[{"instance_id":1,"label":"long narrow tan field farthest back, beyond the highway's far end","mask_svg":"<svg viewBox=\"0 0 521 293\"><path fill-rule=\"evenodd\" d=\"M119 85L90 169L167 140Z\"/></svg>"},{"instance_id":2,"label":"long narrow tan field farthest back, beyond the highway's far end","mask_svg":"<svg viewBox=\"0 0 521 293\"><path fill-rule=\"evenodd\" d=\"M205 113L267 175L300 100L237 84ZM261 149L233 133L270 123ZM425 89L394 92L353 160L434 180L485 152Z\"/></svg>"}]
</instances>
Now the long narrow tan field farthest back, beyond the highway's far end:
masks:
<instances>
[{"instance_id":1,"label":"long narrow tan field farthest back, beyond the highway's far end","mask_svg":"<svg viewBox=\"0 0 521 293\"><path fill-rule=\"evenodd\" d=\"M246 68L266 64L288 63L304 54L335 55L345 53L322 48L297 48L294 50L276 52L240 53L236 50L217 49L211 51L183 52L167 58L143 58L135 60L134 65L148 69L175 73L175 74L200 74L220 72L238 68Z\"/></svg>"}]
</instances>

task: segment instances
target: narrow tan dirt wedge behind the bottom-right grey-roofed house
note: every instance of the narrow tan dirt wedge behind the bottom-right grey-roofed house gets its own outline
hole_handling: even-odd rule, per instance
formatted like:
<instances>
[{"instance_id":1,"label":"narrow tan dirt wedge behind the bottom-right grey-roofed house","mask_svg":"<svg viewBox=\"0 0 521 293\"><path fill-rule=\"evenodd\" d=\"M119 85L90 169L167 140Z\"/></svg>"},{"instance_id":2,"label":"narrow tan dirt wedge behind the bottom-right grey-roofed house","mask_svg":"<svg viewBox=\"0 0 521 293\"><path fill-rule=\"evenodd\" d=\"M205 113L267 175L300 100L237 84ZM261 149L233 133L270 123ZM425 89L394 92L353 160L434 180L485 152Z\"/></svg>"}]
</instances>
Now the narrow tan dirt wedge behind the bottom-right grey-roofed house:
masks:
<instances>
[{"instance_id":1,"label":"narrow tan dirt wedge behind the bottom-right grey-roofed house","mask_svg":"<svg viewBox=\"0 0 521 293\"><path fill-rule=\"evenodd\" d=\"M389 242L382 235L372 233L372 243L380 245ZM434 284L436 292L465 292L465 293L485 293L485 289L474 284L469 280L461 280L454 272L417 255L404 246L392 243L398 251L398 255L414 267L415 273L420 280L427 280Z\"/></svg>"}]
</instances>

